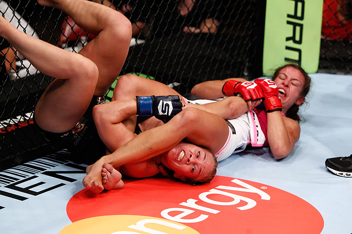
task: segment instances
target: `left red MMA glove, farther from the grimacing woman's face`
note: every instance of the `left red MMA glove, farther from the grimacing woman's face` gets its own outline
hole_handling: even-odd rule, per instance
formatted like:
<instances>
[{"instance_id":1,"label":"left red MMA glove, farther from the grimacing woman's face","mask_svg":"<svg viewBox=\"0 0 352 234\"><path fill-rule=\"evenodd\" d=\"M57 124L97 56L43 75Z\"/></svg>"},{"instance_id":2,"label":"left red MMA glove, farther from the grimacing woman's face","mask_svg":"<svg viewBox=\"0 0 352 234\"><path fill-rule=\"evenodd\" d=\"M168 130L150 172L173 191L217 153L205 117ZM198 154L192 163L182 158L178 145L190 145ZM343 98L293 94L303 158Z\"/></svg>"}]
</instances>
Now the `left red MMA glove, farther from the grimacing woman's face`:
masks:
<instances>
[{"instance_id":1,"label":"left red MMA glove, farther from the grimacing woman's face","mask_svg":"<svg viewBox=\"0 0 352 234\"><path fill-rule=\"evenodd\" d=\"M223 86L223 94L226 96L238 96L240 94L245 101L256 101L264 98L260 86L251 81L227 81Z\"/></svg>"}]
</instances>

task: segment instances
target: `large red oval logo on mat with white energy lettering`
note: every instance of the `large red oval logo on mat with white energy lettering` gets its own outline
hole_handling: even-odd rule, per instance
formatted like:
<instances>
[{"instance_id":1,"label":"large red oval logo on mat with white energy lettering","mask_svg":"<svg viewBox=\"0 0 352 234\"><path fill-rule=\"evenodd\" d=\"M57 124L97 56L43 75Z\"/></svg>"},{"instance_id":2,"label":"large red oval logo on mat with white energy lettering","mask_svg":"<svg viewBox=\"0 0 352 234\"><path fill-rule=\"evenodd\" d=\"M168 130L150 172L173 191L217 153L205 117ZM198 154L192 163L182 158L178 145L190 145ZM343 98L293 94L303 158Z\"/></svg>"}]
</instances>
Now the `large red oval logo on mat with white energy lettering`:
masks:
<instances>
[{"instance_id":1,"label":"large red oval logo on mat with white energy lettering","mask_svg":"<svg viewBox=\"0 0 352 234\"><path fill-rule=\"evenodd\" d=\"M85 189L68 202L67 215L73 222L105 215L148 216L202 234L320 233L324 227L319 211L297 196L223 176L198 186L156 178L125 181L125 188L97 196Z\"/></svg>"}]
</instances>

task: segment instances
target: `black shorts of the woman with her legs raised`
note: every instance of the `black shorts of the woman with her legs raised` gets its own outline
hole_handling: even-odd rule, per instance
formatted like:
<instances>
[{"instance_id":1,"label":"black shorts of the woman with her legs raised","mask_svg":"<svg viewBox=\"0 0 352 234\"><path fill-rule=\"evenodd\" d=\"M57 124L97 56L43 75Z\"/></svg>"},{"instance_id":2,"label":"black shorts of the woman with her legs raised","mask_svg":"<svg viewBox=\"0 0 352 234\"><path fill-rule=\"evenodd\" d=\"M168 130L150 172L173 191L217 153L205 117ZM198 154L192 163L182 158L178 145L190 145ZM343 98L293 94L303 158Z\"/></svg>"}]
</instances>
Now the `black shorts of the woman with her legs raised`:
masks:
<instances>
[{"instance_id":1,"label":"black shorts of the woman with her legs raised","mask_svg":"<svg viewBox=\"0 0 352 234\"><path fill-rule=\"evenodd\" d=\"M96 130L92 109L93 106L105 103L104 97L93 96L87 111L84 113L75 128L63 132L52 133L39 128L44 139L56 150L67 149L72 153L69 160L77 163L92 164L106 154L105 145L100 140Z\"/></svg>"}]
</instances>

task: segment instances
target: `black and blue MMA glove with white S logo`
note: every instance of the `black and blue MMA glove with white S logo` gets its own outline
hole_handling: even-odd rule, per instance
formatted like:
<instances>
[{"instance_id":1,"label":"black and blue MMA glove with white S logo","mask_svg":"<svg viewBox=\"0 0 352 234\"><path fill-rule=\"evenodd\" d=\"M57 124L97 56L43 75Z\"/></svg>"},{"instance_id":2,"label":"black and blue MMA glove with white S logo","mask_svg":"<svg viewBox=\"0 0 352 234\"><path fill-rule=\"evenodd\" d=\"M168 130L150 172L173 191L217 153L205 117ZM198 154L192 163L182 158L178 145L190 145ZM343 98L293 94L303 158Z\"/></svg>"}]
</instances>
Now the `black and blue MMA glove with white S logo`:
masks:
<instances>
[{"instance_id":1,"label":"black and blue MMA glove with white S logo","mask_svg":"<svg viewBox=\"0 0 352 234\"><path fill-rule=\"evenodd\" d=\"M137 115L155 116L164 123L182 111L183 103L178 95L136 96Z\"/></svg>"}]
</instances>

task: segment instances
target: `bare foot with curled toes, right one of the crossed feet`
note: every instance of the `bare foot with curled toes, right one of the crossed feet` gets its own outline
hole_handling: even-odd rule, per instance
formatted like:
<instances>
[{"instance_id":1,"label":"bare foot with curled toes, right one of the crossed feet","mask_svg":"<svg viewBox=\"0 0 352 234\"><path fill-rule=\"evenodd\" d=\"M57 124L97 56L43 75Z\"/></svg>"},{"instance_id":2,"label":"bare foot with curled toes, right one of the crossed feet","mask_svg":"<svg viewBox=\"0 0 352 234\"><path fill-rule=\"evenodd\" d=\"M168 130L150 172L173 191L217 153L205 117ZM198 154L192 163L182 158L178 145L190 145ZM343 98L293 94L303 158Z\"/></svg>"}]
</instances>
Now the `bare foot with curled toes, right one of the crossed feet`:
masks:
<instances>
[{"instance_id":1,"label":"bare foot with curled toes, right one of the crossed feet","mask_svg":"<svg viewBox=\"0 0 352 234\"><path fill-rule=\"evenodd\" d=\"M121 173L108 163L102 165L102 185L105 189L120 189L125 186Z\"/></svg>"}]
</instances>

